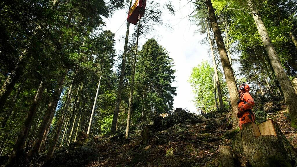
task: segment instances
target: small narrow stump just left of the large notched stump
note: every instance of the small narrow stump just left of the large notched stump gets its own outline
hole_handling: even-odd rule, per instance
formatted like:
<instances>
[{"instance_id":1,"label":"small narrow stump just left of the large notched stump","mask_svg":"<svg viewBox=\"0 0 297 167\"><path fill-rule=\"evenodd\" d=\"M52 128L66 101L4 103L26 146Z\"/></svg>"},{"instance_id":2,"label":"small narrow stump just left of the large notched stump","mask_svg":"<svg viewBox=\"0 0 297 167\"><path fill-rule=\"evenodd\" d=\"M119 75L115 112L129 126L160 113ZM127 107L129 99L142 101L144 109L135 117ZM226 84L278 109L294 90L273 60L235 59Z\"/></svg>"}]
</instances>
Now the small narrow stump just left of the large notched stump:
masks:
<instances>
[{"instance_id":1,"label":"small narrow stump just left of the large notched stump","mask_svg":"<svg viewBox=\"0 0 297 167\"><path fill-rule=\"evenodd\" d=\"M232 148L229 146L220 146L221 162L219 167L234 167Z\"/></svg>"}]
</instances>

